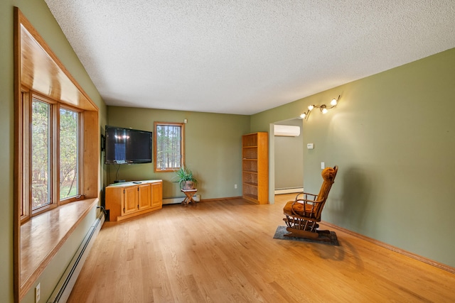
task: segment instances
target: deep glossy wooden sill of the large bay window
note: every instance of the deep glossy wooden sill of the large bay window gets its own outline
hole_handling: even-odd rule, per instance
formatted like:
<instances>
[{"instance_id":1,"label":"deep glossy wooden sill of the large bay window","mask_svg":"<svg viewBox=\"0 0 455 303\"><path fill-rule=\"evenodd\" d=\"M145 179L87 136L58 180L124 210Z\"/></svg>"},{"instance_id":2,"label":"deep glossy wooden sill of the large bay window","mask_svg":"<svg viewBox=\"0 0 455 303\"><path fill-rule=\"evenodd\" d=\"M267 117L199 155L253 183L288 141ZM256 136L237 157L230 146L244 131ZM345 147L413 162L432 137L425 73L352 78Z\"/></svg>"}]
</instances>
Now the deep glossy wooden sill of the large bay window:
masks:
<instances>
[{"instance_id":1,"label":"deep glossy wooden sill of the large bay window","mask_svg":"<svg viewBox=\"0 0 455 303\"><path fill-rule=\"evenodd\" d=\"M21 226L21 290L28 290L82 219L98 204L85 199L59 206Z\"/></svg>"}]
</instances>

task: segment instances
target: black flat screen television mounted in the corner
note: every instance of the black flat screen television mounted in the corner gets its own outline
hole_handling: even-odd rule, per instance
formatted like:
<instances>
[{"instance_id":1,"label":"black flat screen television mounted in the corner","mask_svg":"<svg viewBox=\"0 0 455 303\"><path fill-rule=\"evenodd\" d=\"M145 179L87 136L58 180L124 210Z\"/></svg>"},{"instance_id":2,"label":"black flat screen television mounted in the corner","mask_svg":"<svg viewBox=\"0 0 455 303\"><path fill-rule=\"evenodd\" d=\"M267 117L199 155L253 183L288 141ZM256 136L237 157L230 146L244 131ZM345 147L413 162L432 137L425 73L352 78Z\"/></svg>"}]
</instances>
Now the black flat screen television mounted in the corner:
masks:
<instances>
[{"instance_id":1,"label":"black flat screen television mounted in the corner","mask_svg":"<svg viewBox=\"0 0 455 303\"><path fill-rule=\"evenodd\" d=\"M106 126L105 164L151 162L151 131Z\"/></svg>"}]
</instances>

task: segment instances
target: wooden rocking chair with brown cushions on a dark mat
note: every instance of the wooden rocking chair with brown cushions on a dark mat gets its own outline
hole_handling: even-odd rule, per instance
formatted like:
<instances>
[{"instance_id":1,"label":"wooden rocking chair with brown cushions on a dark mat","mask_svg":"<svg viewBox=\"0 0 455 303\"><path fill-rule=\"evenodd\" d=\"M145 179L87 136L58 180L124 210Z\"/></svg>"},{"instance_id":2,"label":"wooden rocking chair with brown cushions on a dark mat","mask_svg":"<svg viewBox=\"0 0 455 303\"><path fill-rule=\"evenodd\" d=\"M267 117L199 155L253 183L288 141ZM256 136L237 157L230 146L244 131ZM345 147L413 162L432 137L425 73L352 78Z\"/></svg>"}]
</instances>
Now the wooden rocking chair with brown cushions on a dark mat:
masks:
<instances>
[{"instance_id":1,"label":"wooden rocking chair with brown cushions on a dark mat","mask_svg":"<svg viewBox=\"0 0 455 303\"><path fill-rule=\"evenodd\" d=\"M294 201L289 201L284 206L283 212L286 218L286 230L290 233L284 235L288 237L311 238L318 240L319 233L330 233L330 231L319 231L318 222L321 221L321 213L326 204L328 192L338 172L338 167L326 167L321 173L323 183L319 194L309 194L301 192L297 194ZM321 241L327 239L321 238Z\"/></svg>"}]
</instances>

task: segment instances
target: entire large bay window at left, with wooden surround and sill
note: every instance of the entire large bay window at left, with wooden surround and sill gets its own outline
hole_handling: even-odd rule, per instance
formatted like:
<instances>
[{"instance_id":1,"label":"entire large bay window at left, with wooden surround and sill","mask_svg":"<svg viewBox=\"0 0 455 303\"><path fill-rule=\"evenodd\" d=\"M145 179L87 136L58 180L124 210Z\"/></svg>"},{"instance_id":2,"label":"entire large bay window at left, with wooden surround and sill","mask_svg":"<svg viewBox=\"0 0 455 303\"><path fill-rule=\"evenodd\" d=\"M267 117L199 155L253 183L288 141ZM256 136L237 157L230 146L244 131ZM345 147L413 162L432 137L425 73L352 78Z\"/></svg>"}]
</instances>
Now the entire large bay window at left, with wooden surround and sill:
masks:
<instances>
[{"instance_id":1,"label":"entire large bay window at left, with wooden surround and sill","mask_svg":"<svg viewBox=\"0 0 455 303\"><path fill-rule=\"evenodd\" d=\"M33 202L32 192L43 199ZM99 109L14 7L15 302L37 283L98 197ZM59 206L76 200L82 200L76 207Z\"/></svg>"}]
</instances>

